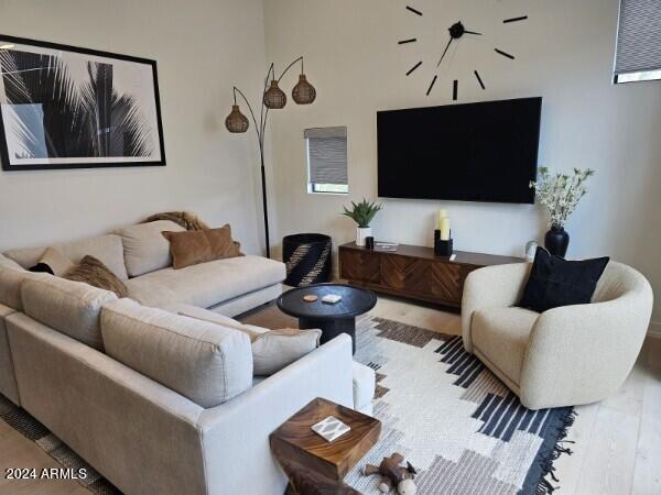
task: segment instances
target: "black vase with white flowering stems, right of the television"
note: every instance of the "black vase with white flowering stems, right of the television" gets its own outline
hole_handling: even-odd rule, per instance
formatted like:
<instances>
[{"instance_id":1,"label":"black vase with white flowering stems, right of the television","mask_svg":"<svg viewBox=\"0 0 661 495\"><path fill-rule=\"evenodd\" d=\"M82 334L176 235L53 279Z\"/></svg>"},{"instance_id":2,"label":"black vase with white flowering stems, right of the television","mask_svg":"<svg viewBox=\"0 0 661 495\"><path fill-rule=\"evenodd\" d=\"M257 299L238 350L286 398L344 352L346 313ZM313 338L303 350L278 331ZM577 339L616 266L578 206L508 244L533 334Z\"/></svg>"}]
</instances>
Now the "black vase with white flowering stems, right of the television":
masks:
<instances>
[{"instance_id":1,"label":"black vase with white flowering stems, right of the television","mask_svg":"<svg viewBox=\"0 0 661 495\"><path fill-rule=\"evenodd\" d=\"M544 248L551 254L563 256L570 245L570 234L564 226L578 206L578 201L587 194L585 182L595 175L590 168L574 168L572 175L556 173L551 175L549 168L541 167L537 182L530 187L537 191L540 204L549 211L549 231L544 237Z\"/></svg>"}]
</instances>

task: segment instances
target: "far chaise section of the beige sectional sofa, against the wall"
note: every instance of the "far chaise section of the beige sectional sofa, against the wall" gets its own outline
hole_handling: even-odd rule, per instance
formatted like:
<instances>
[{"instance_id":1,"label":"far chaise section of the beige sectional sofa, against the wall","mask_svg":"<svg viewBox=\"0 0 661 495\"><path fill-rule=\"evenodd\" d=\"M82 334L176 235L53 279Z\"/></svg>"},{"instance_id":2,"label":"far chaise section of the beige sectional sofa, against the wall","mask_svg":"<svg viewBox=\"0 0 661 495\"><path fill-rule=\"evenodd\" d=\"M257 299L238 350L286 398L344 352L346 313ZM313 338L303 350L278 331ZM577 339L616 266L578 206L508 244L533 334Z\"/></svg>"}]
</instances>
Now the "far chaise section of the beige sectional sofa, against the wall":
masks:
<instances>
[{"instance_id":1,"label":"far chaise section of the beige sectional sofa, against the wall","mask_svg":"<svg viewBox=\"0 0 661 495\"><path fill-rule=\"evenodd\" d=\"M159 220L116 230L107 235L59 243L54 248L78 262L90 254L127 284L129 297L147 306L185 302L236 316L277 298L286 277L284 265L261 256L217 260L182 270L172 268L170 243L162 231L183 231ZM23 268L34 266L46 246L4 253Z\"/></svg>"}]
</instances>

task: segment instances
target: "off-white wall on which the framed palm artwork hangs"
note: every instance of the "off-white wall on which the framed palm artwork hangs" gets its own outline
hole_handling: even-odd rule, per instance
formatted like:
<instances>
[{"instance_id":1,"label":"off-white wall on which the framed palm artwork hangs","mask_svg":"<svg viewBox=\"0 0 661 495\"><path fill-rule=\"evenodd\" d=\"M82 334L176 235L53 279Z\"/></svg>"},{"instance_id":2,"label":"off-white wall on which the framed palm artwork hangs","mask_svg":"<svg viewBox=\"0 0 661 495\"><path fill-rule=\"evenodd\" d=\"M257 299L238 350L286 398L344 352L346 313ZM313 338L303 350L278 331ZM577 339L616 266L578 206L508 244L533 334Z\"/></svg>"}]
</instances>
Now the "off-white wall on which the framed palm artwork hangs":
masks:
<instances>
[{"instance_id":1,"label":"off-white wall on which the framed palm artwork hangs","mask_svg":"<svg viewBox=\"0 0 661 495\"><path fill-rule=\"evenodd\" d=\"M230 222L245 249L260 252L256 138L230 135L224 122L234 84L259 94L261 0L0 0L0 33L156 59L167 158L166 167L0 172L0 250L188 209Z\"/></svg>"}]
</instances>

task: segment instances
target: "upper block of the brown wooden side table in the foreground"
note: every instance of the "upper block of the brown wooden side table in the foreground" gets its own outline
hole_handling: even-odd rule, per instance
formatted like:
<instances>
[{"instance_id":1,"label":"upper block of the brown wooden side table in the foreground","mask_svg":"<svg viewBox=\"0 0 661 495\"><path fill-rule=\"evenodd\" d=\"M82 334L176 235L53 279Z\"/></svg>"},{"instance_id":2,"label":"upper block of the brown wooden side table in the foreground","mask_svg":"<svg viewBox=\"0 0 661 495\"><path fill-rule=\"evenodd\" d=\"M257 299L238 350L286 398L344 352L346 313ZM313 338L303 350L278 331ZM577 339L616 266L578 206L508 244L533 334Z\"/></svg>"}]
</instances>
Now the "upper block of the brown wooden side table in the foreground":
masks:
<instances>
[{"instance_id":1,"label":"upper block of the brown wooden side table in the foreground","mask_svg":"<svg viewBox=\"0 0 661 495\"><path fill-rule=\"evenodd\" d=\"M335 416L351 430L334 442L312 431L322 419ZM316 398L271 433L271 449L282 463L304 466L333 480L342 480L375 446L381 421L323 398Z\"/></svg>"}]
</instances>

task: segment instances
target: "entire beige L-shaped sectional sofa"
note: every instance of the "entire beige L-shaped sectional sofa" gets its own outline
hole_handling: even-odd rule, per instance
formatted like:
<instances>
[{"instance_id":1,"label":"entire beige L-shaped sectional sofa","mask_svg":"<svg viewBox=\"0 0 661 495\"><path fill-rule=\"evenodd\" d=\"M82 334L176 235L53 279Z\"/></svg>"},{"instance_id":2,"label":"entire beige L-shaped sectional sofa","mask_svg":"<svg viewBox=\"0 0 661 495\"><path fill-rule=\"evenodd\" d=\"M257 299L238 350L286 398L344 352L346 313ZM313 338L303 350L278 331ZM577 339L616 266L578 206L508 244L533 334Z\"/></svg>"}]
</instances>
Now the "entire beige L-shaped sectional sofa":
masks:
<instances>
[{"instance_id":1,"label":"entire beige L-shaped sectional sofa","mask_svg":"<svg viewBox=\"0 0 661 495\"><path fill-rule=\"evenodd\" d=\"M269 433L315 397L370 414L373 371L342 336L253 376L241 323L172 308L242 312L281 290L283 265L242 256L175 271L152 235L160 229L176 230L148 224L57 246L74 262L101 260L126 280L123 299L25 271L43 249L0 255L0 393L127 494L283 493Z\"/></svg>"}]
</instances>

